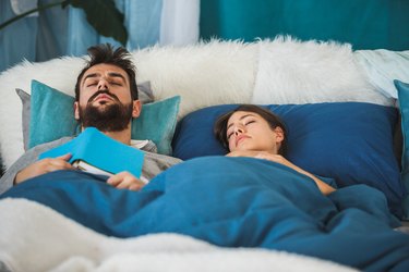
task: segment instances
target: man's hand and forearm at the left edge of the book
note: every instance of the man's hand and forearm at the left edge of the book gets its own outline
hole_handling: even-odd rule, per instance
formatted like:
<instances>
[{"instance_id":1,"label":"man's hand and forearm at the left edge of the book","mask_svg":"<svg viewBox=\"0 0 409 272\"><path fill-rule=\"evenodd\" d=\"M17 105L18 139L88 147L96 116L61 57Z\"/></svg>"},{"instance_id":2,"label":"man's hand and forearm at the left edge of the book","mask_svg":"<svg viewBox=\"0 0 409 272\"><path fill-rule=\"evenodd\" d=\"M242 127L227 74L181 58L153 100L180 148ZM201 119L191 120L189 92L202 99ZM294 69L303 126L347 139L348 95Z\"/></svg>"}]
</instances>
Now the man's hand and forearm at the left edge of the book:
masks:
<instances>
[{"instance_id":1,"label":"man's hand and forearm at the left edge of the book","mask_svg":"<svg viewBox=\"0 0 409 272\"><path fill-rule=\"evenodd\" d=\"M74 168L68 162L70 158L71 158L71 154L67 153L64 156L57 157L55 159L47 158L47 159L36 161L35 163L21 170L15 175L14 184L19 184L28 178L43 175L45 173L57 171L57 170L72 170Z\"/></svg>"}]
</instances>

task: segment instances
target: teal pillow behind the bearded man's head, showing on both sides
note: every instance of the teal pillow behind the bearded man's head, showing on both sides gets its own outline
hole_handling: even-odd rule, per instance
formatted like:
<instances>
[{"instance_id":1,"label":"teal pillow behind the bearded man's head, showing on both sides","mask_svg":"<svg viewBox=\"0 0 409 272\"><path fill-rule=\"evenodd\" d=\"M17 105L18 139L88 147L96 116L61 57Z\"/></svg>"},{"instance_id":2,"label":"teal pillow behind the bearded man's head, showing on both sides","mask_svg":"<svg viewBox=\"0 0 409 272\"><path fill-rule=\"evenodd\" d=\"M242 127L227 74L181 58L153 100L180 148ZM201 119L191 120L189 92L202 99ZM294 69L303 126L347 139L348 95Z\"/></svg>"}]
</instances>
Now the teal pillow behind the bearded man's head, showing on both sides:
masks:
<instances>
[{"instance_id":1,"label":"teal pillow behind the bearded man's head, showing on both sides","mask_svg":"<svg viewBox=\"0 0 409 272\"><path fill-rule=\"evenodd\" d=\"M28 147L74 136L74 98L37 81L32 81ZM180 96L144 104L141 115L132 121L132 139L153 140L159 153L171 154Z\"/></svg>"}]
</instances>

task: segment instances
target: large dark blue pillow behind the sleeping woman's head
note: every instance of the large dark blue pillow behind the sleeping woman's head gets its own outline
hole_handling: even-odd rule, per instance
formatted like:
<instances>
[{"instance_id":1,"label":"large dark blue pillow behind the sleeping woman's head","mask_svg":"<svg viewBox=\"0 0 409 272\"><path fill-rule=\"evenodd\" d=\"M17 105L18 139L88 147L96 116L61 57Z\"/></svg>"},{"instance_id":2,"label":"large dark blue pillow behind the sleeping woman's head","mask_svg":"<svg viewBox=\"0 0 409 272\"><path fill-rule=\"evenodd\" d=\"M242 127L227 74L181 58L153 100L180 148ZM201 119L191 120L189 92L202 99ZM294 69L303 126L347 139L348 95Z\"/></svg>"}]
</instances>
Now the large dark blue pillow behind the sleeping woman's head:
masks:
<instances>
[{"instance_id":1,"label":"large dark blue pillow behind the sleeping woman's head","mask_svg":"<svg viewBox=\"0 0 409 272\"><path fill-rule=\"evenodd\" d=\"M205 108L188 114L177 127L173 156L189 160L225 154L213 135L215 120L236 104ZM382 190L390 211L402 217L405 189L393 148L398 112L393 107L360 102L266 106L288 129L287 158L339 187L366 184Z\"/></svg>"}]
</instances>

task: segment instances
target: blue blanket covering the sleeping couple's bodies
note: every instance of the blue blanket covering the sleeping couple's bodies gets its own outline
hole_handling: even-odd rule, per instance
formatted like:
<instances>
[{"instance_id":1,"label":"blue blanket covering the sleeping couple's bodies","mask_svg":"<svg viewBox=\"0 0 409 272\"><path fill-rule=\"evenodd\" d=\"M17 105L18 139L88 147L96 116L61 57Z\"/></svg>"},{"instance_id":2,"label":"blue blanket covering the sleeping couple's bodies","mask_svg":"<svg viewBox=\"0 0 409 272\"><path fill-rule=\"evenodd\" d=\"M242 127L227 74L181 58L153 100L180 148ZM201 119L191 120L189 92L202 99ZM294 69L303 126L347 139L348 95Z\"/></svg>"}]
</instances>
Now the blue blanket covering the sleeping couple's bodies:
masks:
<instances>
[{"instance_id":1,"label":"blue blanket covering the sleeping couple's bodies","mask_svg":"<svg viewBox=\"0 0 409 272\"><path fill-rule=\"evenodd\" d=\"M284 165L204 157L178 164L141 191L105 176L57 171L13 187L99 233L133 237L172 232L224 247L287 250L373 271L409 271L409 235L393 231L384 195L364 185L323 196Z\"/></svg>"}]
</instances>

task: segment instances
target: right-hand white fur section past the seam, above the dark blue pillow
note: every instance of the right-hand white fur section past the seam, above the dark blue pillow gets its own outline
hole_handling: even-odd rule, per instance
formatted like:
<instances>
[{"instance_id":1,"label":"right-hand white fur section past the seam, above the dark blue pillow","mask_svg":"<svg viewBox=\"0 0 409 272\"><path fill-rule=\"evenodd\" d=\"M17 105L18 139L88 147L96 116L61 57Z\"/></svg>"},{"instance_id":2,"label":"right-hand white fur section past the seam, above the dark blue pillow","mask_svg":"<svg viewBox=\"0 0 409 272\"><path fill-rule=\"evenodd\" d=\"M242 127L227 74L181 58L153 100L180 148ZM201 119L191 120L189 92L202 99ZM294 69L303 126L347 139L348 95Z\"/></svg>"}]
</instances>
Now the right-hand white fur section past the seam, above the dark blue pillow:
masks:
<instances>
[{"instance_id":1,"label":"right-hand white fur section past the seam, above the dark blue pillow","mask_svg":"<svg viewBox=\"0 0 409 272\"><path fill-rule=\"evenodd\" d=\"M278 37L260 42L253 103L361 101L393 104L354 63L348 44Z\"/></svg>"}]
</instances>

